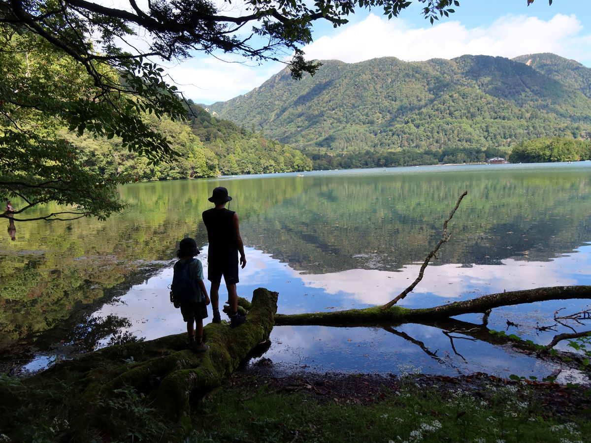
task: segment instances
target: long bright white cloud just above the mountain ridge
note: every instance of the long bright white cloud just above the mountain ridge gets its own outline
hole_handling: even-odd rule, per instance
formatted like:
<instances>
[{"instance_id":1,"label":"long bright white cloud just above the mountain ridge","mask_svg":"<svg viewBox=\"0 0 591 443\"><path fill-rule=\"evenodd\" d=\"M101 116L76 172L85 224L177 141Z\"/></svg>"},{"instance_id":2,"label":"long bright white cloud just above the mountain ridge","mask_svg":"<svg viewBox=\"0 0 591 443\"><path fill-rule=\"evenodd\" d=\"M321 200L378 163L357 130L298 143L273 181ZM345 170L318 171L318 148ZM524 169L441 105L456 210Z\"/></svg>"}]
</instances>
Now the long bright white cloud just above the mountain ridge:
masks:
<instances>
[{"instance_id":1,"label":"long bright white cloud just above the mountain ridge","mask_svg":"<svg viewBox=\"0 0 591 443\"><path fill-rule=\"evenodd\" d=\"M591 60L591 35L575 15L556 14L548 21L505 15L489 27L466 29L459 21L409 28L402 19L370 14L335 37L320 37L304 48L308 58L357 63L375 57L401 60L453 58L464 54L516 57L551 52L579 61Z\"/></svg>"}]
</instances>

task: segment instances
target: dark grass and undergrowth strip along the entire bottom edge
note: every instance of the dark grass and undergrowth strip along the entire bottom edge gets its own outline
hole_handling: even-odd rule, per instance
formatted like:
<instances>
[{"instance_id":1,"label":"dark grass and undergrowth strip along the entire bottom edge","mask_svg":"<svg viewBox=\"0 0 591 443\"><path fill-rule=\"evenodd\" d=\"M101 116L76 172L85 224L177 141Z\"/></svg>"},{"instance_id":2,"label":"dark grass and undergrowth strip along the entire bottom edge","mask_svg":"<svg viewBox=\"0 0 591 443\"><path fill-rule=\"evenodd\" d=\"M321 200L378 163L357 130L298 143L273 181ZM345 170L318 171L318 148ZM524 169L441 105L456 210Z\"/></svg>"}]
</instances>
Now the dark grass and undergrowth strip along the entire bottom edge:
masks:
<instances>
[{"instance_id":1,"label":"dark grass and undergrowth strip along the entire bottom edge","mask_svg":"<svg viewBox=\"0 0 591 443\"><path fill-rule=\"evenodd\" d=\"M236 375L193 402L195 430L179 435L176 422L137 390L82 399L76 381L38 380L0 377L0 442L579 443L591 435L588 413L553 415L525 382L441 389L407 376L390 387L375 383L368 399L355 390L348 398L317 395L305 383L288 392L285 384Z\"/></svg>"}]
</instances>

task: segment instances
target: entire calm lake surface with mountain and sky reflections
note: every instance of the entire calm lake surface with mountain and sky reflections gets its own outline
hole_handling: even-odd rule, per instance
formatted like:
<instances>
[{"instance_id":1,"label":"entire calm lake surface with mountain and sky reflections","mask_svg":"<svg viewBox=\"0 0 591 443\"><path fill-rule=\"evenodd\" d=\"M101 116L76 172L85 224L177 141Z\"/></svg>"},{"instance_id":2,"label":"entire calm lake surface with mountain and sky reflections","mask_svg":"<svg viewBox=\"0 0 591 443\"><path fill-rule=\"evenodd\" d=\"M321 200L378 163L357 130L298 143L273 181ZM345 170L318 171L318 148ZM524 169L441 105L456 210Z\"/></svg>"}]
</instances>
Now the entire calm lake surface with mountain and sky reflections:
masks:
<instances>
[{"instance_id":1,"label":"entire calm lake surface with mountain and sky reflections","mask_svg":"<svg viewBox=\"0 0 591 443\"><path fill-rule=\"evenodd\" d=\"M174 249L183 237L194 237L206 265L201 213L211 207L207 197L219 185L233 197L229 209L238 211L247 246L239 295L249 298L260 286L278 291L283 314L364 308L394 298L416 277L465 190L449 224L452 239L402 305L430 307L504 290L590 285L590 172L591 162L579 162L126 185L121 197L129 206L107 222L21 223L14 240L8 233L0 237L2 370L34 371L129 337L149 340L184 331L180 312L168 301ZM589 303L499 308L488 327L547 344L569 327L586 330L574 322L557 323L554 311L573 314ZM414 368L538 377L560 369L555 361L493 338L449 332L480 324L480 314L457 320L439 327L275 327L271 347L251 364L270 359L277 370ZM563 368L559 377L579 374Z\"/></svg>"}]
</instances>

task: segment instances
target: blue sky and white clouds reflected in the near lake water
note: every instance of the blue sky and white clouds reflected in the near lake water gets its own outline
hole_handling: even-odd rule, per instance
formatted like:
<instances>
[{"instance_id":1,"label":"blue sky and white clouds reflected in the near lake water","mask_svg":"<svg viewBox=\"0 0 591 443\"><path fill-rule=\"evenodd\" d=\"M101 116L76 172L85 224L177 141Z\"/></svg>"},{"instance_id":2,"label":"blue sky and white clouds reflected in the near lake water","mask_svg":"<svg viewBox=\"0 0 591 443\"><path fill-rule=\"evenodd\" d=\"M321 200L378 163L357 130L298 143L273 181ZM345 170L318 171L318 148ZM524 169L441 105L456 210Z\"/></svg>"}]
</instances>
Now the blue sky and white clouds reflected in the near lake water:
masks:
<instances>
[{"instance_id":1,"label":"blue sky and white clouds reflected in the near lake water","mask_svg":"<svg viewBox=\"0 0 591 443\"><path fill-rule=\"evenodd\" d=\"M259 286L274 288L280 292L278 312L284 314L383 304L400 293L408 285L407 279L414 278L419 268L419 265L412 265L402 272L356 270L310 275L258 250L247 249L246 252L249 263L256 263L256 266L246 268L248 272L241 275L240 292L252 294ZM205 250L203 258L206 253ZM423 282L405 299L405 306L429 307L452 299L545 284L591 284L591 276L582 273L591 265L590 253L591 246L584 246L572 255L549 262L506 260L503 266L472 268L428 266ZM521 281L515 281L519 276L523 276ZM134 286L120 304L107 305L96 315L115 312L124 315L133 323L126 331L148 339L181 333L180 313L167 298L166 286L171 279L171 270L165 269L145 284ZM223 299L223 295L220 297ZM545 377L563 367L560 361L538 360L529 350L520 350L495 339L489 330L504 330L535 343L547 344L555 334L567 331L561 325L553 330L541 329L556 324L553 312L563 307L566 311L578 312L588 308L588 303L587 300L546 301L500 308L487 316L485 324L482 314L465 314L437 324L275 327L271 346L262 358L271 359L278 368L320 372L397 373L399 365L414 365L425 373L453 375L480 371ZM574 322L570 324L577 330L582 328ZM107 340L102 343L106 344ZM566 345L563 343L558 348L566 350ZM561 377L577 376L577 371L563 369Z\"/></svg>"}]
</instances>

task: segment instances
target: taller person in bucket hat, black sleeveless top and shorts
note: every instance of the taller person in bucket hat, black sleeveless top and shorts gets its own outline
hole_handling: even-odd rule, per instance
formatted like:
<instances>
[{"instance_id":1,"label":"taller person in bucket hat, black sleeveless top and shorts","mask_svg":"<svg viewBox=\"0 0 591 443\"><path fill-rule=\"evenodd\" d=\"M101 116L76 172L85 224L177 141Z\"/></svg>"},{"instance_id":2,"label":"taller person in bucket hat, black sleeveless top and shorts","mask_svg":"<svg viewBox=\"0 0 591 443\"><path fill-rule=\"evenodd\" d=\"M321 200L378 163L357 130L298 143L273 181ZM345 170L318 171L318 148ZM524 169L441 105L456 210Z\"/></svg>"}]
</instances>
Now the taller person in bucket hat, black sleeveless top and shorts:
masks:
<instances>
[{"instance_id":1,"label":"taller person in bucket hat, black sleeveless top and shorts","mask_svg":"<svg viewBox=\"0 0 591 443\"><path fill-rule=\"evenodd\" d=\"M244 245L240 236L238 214L226 209L226 203L232 200L228 190L217 187L208 199L215 208L203 212L203 222L207 228L209 252L207 253L207 279L212 283L209 293L212 298L213 323L222 323L219 311L219 288L222 275L228 289L230 305L230 326L235 328L246 321L246 317L238 315L238 252L242 269L246 266Z\"/></svg>"}]
</instances>

